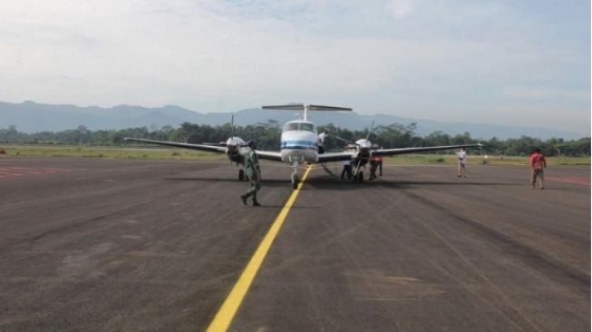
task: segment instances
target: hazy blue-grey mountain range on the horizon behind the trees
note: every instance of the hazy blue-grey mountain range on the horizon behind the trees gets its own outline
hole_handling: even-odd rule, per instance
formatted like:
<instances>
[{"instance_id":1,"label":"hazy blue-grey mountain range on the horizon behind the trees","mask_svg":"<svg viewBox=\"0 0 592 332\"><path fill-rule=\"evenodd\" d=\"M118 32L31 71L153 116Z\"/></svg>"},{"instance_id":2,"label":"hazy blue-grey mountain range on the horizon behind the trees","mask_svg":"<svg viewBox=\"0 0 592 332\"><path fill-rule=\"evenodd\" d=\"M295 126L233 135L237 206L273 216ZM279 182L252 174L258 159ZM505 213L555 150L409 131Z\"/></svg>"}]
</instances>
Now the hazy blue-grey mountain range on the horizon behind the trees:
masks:
<instances>
[{"instance_id":1,"label":"hazy blue-grey mountain range on the horizon behind the trees","mask_svg":"<svg viewBox=\"0 0 592 332\"><path fill-rule=\"evenodd\" d=\"M275 120L284 123L301 115L290 111L263 111L258 108L237 112L194 112L179 106L167 105L159 108L119 105L112 108L97 106L80 107L70 104L46 103L5 103L0 102L0 129L15 125L20 132L60 132L75 129L80 125L96 130L119 130L125 128L148 127L151 130L165 125L178 127L182 122L220 125L230 122L235 115L235 124L245 126ZM450 135L469 132L471 137L489 140L519 138L522 135L542 140L556 137L567 140L589 137L589 133L558 131L537 127L514 127L500 124L437 122L412 119L388 114L363 115L357 112L312 112L309 117L317 125L333 123L349 130L364 130L374 120L374 125L417 123L416 133L425 136L432 132L445 132Z\"/></svg>"}]
</instances>

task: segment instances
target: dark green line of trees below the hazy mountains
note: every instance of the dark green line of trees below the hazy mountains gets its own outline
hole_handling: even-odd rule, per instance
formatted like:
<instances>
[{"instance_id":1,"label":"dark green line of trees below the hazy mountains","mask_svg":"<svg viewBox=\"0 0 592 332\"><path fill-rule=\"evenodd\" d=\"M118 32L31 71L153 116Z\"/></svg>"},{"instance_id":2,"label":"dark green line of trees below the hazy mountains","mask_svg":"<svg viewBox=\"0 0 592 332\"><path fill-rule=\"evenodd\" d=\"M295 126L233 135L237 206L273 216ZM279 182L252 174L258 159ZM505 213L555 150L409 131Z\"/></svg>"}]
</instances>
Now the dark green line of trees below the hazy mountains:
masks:
<instances>
[{"instance_id":1,"label":"dark green line of trees below the hazy mountains","mask_svg":"<svg viewBox=\"0 0 592 332\"><path fill-rule=\"evenodd\" d=\"M416 123L408 125L393 123L377 126L372 131L369 129L351 131L346 128L336 127L333 124L327 124L325 126L318 126L317 131L328 133L325 139L326 151L341 151L345 147L345 142L355 142L361 138L368 137L371 142L385 148L440 146L480 142L484 144L484 153L490 155L526 156L537 147L548 156L581 157L590 155L589 137L571 141L561 138L551 138L543 141L529 136L507 140L500 140L495 137L490 140L481 140L472 138L469 132L457 135L450 135L445 132L432 132L422 137L415 132L416 127ZM0 142L120 146L132 144L125 142L125 137L134 137L160 141L217 143L225 142L233 134L244 140L256 140L259 149L279 150L281 125L274 120L244 127L236 126L234 128L230 123L211 126L208 124L183 122L178 128L164 126L160 129L139 127L98 131L91 131L81 125L76 129L62 132L34 133L19 132L12 125L8 128L0 129Z\"/></svg>"}]
</instances>

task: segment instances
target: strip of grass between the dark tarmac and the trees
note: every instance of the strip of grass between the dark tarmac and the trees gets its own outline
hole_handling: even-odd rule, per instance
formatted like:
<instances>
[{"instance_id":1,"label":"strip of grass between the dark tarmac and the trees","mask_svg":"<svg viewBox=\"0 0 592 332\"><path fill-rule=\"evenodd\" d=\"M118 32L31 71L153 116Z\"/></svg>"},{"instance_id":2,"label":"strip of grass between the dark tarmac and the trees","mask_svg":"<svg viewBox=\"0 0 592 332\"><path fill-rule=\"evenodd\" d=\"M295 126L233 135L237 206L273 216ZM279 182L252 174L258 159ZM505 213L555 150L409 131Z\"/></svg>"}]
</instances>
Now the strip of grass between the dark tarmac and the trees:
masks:
<instances>
[{"instance_id":1,"label":"strip of grass between the dark tarmac and the trees","mask_svg":"<svg viewBox=\"0 0 592 332\"><path fill-rule=\"evenodd\" d=\"M84 158L126 158L126 159L154 159L154 160L209 160L225 161L223 154L192 151L175 148L150 148L150 147L101 147L101 146L73 146L73 145L14 145L2 144L0 149L7 156L24 157L84 157ZM478 153L478 152L477 152ZM488 156L484 158L479 154L467 155L469 165L528 165L528 157ZM485 162L484 162L485 161ZM400 156L384 158L385 163L424 165L442 164L454 165L457 157L450 154L404 154ZM549 165L590 165L590 157L568 158L547 157Z\"/></svg>"}]
</instances>

